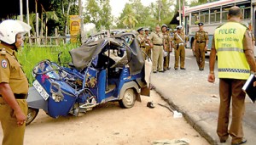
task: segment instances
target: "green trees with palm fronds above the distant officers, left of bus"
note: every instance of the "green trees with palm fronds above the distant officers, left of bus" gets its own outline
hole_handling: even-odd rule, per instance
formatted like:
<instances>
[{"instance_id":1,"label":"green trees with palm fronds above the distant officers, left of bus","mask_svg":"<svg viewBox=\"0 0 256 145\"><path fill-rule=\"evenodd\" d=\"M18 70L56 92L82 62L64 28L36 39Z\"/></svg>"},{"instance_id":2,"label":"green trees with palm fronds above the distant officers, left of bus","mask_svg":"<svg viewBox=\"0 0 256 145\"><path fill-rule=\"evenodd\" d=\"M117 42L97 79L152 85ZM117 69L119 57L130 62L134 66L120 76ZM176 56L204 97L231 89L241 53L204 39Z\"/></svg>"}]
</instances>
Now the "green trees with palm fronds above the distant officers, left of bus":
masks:
<instances>
[{"instance_id":1,"label":"green trees with palm fronds above the distant officers, left of bus","mask_svg":"<svg viewBox=\"0 0 256 145\"><path fill-rule=\"evenodd\" d=\"M141 0L130 0L118 18L117 26L134 29L141 26L154 28L155 25L168 25L174 13L170 8L173 2L174 0L158 0L146 7Z\"/></svg>"}]
</instances>

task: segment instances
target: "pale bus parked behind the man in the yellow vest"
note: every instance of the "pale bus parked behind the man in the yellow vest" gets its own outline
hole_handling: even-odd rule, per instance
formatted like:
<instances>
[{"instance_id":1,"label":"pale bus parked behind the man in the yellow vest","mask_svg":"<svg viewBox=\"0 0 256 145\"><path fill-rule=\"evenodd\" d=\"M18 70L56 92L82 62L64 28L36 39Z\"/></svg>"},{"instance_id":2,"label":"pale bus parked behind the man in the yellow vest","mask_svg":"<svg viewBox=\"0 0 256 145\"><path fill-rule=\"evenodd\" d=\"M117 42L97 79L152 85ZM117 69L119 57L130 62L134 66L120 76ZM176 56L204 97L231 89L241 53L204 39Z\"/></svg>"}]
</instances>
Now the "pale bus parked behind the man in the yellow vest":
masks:
<instances>
[{"instance_id":1,"label":"pale bus parked behind the man in the yellow vest","mask_svg":"<svg viewBox=\"0 0 256 145\"><path fill-rule=\"evenodd\" d=\"M212 36L218 25L227 21L227 14L231 7L241 8L244 25L247 25L255 34L255 10L256 0L220 0L212 3L201 4L195 7L185 8L185 33L189 36L187 47L192 47L195 40L195 32L199 30L198 23L204 23L204 31L208 32L209 42L207 52L212 46ZM254 56L255 56L254 50ZM193 52L194 53L194 52ZM194 53L195 55L195 53Z\"/></svg>"}]
</instances>

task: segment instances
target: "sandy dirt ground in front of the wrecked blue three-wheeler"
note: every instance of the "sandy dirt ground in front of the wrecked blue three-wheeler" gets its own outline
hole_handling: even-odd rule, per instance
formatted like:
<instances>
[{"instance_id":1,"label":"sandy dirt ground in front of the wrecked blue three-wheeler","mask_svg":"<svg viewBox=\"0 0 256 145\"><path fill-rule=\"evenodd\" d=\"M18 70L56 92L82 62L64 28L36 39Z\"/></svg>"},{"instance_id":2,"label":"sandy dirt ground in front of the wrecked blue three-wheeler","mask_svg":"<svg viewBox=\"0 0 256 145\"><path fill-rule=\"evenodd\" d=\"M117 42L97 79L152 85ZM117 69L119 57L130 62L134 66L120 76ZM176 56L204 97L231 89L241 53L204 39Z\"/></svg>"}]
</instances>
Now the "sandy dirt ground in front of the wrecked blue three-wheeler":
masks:
<instances>
[{"instance_id":1,"label":"sandy dirt ground in front of the wrecked blue three-wheeler","mask_svg":"<svg viewBox=\"0 0 256 145\"><path fill-rule=\"evenodd\" d=\"M154 101L154 109L147 107ZM154 141L185 139L191 145L208 145L183 118L173 118L166 104L151 91L142 96L131 109L121 109L118 103L105 103L79 117L50 118L43 111L31 125L26 126L25 145L146 145ZM3 132L0 131L2 141Z\"/></svg>"}]
</instances>

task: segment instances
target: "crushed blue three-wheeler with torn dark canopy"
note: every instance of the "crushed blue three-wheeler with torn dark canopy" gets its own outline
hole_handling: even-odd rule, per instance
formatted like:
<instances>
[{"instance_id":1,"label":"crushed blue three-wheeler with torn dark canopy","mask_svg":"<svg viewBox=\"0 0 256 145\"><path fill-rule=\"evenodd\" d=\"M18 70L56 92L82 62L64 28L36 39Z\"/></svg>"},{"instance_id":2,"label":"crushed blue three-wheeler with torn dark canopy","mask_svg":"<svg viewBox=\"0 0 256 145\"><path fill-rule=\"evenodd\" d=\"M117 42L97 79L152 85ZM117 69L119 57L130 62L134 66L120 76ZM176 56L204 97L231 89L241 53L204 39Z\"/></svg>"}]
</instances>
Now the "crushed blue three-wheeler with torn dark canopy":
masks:
<instances>
[{"instance_id":1,"label":"crushed blue three-wheeler with torn dark canopy","mask_svg":"<svg viewBox=\"0 0 256 145\"><path fill-rule=\"evenodd\" d=\"M26 125L39 109L53 118L78 116L110 101L129 109L141 101L140 95L149 96L151 61L143 59L134 34L85 42L69 53L72 62L68 66L45 59L32 70L35 81L26 99Z\"/></svg>"}]
</instances>

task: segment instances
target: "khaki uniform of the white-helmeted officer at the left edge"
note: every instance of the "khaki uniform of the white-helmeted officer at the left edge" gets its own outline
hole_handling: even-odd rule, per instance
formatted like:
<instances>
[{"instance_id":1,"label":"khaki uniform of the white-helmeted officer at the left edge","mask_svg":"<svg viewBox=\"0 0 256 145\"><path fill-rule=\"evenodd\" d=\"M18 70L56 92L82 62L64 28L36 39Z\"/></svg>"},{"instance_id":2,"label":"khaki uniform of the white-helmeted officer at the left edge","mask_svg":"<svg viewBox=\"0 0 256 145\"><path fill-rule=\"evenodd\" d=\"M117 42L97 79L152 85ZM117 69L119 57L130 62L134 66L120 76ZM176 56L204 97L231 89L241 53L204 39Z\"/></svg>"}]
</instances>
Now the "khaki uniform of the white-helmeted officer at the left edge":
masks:
<instances>
[{"instance_id":1,"label":"khaki uniform of the white-helmeted officer at the left edge","mask_svg":"<svg viewBox=\"0 0 256 145\"><path fill-rule=\"evenodd\" d=\"M16 96L28 92L28 81L26 75L21 69L20 63L15 57L15 52L9 47L4 47L0 44L0 83L9 83L11 90ZM17 95L20 94L20 95ZM9 104L5 103L2 95L0 94L0 121L3 128L3 145L22 145L25 133L26 124L21 126L17 125L17 120L14 115L14 110L11 109ZM20 109L27 114L26 99L17 99Z\"/></svg>"}]
</instances>

